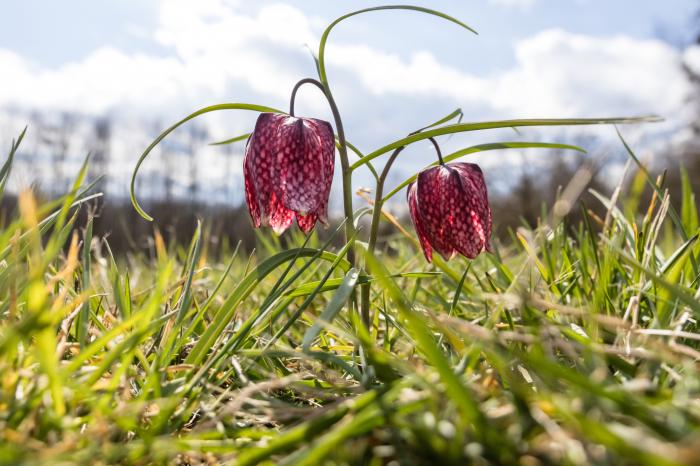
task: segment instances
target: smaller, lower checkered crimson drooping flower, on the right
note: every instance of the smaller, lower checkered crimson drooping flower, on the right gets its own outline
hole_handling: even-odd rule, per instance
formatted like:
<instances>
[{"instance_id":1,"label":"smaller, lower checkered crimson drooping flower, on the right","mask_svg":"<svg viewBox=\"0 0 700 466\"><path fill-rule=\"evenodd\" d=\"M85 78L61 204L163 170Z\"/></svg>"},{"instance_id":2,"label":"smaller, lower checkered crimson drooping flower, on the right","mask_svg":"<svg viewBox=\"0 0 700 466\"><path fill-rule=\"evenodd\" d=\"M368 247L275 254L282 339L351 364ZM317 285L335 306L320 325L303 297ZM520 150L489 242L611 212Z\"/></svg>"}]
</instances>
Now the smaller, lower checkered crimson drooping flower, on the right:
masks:
<instances>
[{"instance_id":1,"label":"smaller, lower checkered crimson drooping flower, on the right","mask_svg":"<svg viewBox=\"0 0 700 466\"><path fill-rule=\"evenodd\" d=\"M427 168L408 186L408 207L423 253L446 260L460 253L474 259L490 251L491 208L484 175L473 163Z\"/></svg>"}]
</instances>

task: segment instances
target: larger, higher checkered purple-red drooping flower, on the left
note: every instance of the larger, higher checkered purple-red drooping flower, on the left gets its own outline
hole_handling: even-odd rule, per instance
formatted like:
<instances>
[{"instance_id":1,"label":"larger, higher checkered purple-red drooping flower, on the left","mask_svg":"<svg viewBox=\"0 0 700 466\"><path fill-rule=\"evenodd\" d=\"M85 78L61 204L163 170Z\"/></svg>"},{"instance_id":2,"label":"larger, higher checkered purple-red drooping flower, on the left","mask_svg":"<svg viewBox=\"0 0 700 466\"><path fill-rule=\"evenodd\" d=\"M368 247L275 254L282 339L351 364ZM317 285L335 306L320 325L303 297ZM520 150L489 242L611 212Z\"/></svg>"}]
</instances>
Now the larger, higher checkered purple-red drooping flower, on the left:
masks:
<instances>
[{"instance_id":1,"label":"larger, higher checkered purple-red drooping flower, on the left","mask_svg":"<svg viewBox=\"0 0 700 466\"><path fill-rule=\"evenodd\" d=\"M335 167L331 125L315 118L261 113L243 161L248 211L256 227L280 234L296 218L304 233L328 222Z\"/></svg>"}]
</instances>

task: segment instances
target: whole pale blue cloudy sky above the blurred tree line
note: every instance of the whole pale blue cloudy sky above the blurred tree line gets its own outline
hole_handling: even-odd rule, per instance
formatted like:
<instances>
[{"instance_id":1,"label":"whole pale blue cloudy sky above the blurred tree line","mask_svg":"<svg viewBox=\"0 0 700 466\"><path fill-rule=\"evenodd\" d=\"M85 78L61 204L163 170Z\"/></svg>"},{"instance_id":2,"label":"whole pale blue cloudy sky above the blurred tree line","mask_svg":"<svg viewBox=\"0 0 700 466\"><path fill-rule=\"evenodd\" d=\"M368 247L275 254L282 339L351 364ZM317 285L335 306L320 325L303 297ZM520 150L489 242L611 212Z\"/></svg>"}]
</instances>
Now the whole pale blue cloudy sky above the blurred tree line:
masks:
<instances>
[{"instance_id":1,"label":"whole pale blue cloudy sky above the blurred tree line","mask_svg":"<svg viewBox=\"0 0 700 466\"><path fill-rule=\"evenodd\" d=\"M315 74L310 50L317 49L325 26L348 11L378 4L8 2L0 28L0 111L109 115L150 122L152 131L152 122L165 126L214 103L286 109L294 83ZM448 13L479 34L400 11L360 15L333 30L326 54L329 80L348 138L365 152L457 107L467 121L656 114L665 122L624 131L634 142L683 137L690 83L680 65L700 69L698 47L690 45L699 22L695 0L413 4ZM300 93L297 114L331 119L311 88ZM204 117L203 123L219 140L249 131L254 118L226 112ZM0 139L9 141L21 127L17 119L5 120ZM611 128L589 131L614 134ZM494 142L504 134L513 139L512 132L491 132L455 136L445 145ZM550 141L572 135L542 130L516 136ZM30 137L36 137L31 128ZM407 150L399 170L431 162L429 150L427 145ZM527 154L489 154L477 161L497 178L499 167L522 163ZM121 166L129 167L137 156L138 151L125 153Z\"/></svg>"}]
</instances>

